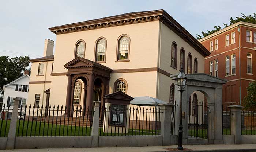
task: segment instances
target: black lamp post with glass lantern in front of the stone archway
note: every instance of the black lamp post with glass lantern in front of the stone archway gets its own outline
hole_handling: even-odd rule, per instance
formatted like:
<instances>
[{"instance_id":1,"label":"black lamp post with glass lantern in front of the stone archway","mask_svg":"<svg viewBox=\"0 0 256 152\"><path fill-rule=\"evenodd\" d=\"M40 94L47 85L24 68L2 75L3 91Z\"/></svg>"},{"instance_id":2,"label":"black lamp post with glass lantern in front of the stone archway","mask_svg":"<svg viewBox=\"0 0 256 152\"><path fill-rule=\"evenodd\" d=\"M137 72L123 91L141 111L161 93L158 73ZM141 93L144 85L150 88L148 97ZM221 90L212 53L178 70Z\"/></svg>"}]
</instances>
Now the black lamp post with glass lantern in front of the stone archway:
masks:
<instances>
[{"instance_id":1,"label":"black lamp post with glass lantern in front of the stone archway","mask_svg":"<svg viewBox=\"0 0 256 152\"><path fill-rule=\"evenodd\" d=\"M187 77L183 71L183 67L181 66L181 71L180 73L178 74L178 77L177 77L177 81L178 81L178 88L180 90L180 125L179 125L179 130L178 130L178 133L179 133L179 136L178 136L178 150L183 150L183 147L182 147L182 138L183 138L183 126L182 126L182 93L183 93L183 88L185 88L185 85L186 85L186 81L187 81Z\"/></svg>"}]
</instances>

